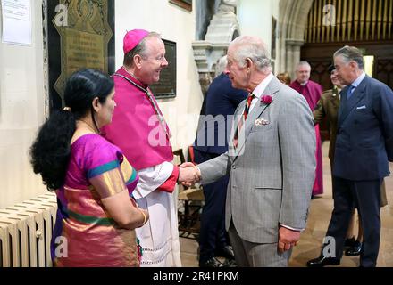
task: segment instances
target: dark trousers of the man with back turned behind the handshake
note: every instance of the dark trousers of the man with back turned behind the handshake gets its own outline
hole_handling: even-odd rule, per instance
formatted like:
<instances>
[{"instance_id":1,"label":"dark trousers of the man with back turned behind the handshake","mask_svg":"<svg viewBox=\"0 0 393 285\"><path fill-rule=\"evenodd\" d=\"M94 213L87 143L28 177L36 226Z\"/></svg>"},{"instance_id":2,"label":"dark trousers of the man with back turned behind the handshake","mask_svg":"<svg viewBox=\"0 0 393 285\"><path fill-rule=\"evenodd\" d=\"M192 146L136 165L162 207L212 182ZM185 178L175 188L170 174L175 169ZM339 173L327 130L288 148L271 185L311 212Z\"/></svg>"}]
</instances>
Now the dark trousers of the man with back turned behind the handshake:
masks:
<instances>
[{"instance_id":1,"label":"dark trousers of the man with back turned behind the handshake","mask_svg":"<svg viewBox=\"0 0 393 285\"><path fill-rule=\"evenodd\" d=\"M202 163L219 156L216 153L202 152L194 149L195 162ZM225 231L225 201L229 176L215 183L204 185L205 206L202 209L199 233L199 261L205 262L229 244Z\"/></svg>"}]
</instances>

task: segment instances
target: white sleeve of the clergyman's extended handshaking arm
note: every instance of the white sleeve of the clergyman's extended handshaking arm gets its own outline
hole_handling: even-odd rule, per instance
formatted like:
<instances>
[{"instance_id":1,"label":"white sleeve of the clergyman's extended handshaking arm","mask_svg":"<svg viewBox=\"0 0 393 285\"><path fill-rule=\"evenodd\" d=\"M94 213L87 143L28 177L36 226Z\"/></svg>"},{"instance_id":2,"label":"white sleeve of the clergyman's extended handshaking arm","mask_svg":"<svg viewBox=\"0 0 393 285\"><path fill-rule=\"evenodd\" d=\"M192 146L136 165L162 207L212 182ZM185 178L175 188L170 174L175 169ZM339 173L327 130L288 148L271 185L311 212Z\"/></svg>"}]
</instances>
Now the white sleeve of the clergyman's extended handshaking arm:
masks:
<instances>
[{"instance_id":1,"label":"white sleeve of the clergyman's extended handshaking arm","mask_svg":"<svg viewBox=\"0 0 393 285\"><path fill-rule=\"evenodd\" d=\"M160 187L173 172L173 164L171 162L163 162L154 167L147 167L138 171L139 181L137 188L132 195L135 199L146 197L152 191Z\"/></svg>"}]
</instances>

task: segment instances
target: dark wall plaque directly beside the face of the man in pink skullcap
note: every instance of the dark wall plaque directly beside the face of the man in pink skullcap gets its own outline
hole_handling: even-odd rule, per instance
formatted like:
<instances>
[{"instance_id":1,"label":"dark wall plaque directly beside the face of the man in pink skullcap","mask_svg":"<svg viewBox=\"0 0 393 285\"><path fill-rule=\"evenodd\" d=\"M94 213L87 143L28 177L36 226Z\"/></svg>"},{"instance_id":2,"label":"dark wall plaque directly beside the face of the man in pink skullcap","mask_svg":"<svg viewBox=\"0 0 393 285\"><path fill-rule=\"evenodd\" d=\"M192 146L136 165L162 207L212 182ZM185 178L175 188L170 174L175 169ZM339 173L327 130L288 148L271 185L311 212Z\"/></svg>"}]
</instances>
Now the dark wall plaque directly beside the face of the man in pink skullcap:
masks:
<instances>
[{"instance_id":1,"label":"dark wall plaque directly beside the face of the man in pink skullcap","mask_svg":"<svg viewBox=\"0 0 393 285\"><path fill-rule=\"evenodd\" d=\"M161 71L160 81L150 86L157 99L176 97L176 43L163 39L163 44L168 67Z\"/></svg>"}]
</instances>

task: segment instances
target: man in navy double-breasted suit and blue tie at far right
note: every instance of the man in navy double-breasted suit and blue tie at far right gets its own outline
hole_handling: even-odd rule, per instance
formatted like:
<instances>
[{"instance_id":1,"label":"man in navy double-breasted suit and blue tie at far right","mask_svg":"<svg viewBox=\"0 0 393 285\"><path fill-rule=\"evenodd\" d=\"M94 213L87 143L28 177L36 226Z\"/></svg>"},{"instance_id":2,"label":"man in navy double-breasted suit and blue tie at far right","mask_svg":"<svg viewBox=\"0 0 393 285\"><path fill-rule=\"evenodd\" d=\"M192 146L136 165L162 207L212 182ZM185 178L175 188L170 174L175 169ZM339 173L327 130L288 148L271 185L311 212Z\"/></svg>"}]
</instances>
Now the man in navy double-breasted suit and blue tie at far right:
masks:
<instances>
[{"instance_id":1,"label":"man in navy double-breasted suit and blue tie at far right","mask_svg":"<svg viewBox=\"0 0 393 285\"><path fill-rule=\"evenodd\" d=\"M377 264L380 248L380 184L393 161L393 92L364 73L360 51L344 46L334 53L341 84L333 165L334 209L321 256L308 266L339 265L352 208L364 228L360 266Z\"/></svg>"}]
</instances>

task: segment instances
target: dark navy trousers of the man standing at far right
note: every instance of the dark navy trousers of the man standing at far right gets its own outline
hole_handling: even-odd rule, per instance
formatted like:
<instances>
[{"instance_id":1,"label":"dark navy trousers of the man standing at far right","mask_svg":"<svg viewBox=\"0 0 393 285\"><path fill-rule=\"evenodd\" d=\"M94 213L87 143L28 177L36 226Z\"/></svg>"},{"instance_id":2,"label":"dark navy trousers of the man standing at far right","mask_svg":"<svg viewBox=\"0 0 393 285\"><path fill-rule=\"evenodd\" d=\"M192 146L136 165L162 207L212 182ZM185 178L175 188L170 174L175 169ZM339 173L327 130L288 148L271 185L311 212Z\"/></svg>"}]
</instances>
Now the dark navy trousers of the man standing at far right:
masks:
<instances>
[{"instance_id":1,"label":"dark navy trousers of the man standing at far right","mask_svg":"<svg viewBox=\"0 0 393 285\"><path fill-rule=\"evenodd\" d=\"M326 237L336 243L336 257L341 258L352 210L357 208L364 229L364 248L360 265L377 264L380 250L380 184L382 179L352 181L333 176L334 209ZM330 243L331 245L331 243Z\"/></svg>"}]
</instances>

